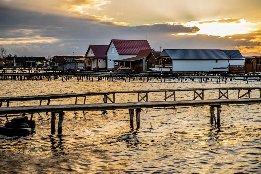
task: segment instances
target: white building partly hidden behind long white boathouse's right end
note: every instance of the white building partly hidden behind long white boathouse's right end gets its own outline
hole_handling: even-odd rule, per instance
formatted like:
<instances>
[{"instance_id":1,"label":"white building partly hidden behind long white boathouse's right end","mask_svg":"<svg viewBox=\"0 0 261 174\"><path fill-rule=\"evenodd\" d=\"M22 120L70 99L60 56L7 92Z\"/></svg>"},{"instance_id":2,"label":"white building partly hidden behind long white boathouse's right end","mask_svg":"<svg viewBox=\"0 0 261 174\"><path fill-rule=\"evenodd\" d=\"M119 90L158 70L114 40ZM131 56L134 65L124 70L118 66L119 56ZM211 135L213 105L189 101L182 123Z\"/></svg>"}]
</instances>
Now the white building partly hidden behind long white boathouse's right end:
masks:
<instances>
[{"instance_id":1,"label":"white building partly hidden behind long white boathouse's right end","mask_svg":"<svg viewBox=\"0 0 261 174\"><path fill-rule=\"evenodd\" d=\"M229 57L229 65L245 65L245 58L239 50L221 50Z\"/></svg>"}]
</instances>

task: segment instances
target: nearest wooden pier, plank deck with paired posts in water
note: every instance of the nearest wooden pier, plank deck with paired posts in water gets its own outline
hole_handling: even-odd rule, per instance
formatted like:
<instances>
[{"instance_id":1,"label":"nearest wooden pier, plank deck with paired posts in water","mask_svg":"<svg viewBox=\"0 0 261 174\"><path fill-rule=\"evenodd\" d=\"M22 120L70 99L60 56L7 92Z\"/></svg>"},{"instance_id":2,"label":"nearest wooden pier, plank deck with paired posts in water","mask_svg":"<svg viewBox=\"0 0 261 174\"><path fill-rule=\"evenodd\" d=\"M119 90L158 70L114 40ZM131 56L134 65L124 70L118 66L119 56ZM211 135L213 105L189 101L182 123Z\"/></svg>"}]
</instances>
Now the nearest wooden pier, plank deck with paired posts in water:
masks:
<instances>
[{"instance_id":1,"label":"nearest wooden pier, plank deck with paired posts in water","mask_svg":"<svg viewBox=\"0 0 261 174\"><path fill-rule=\"evenodd\" d=\"M186 100L186 101L151 101L151 102L132 102L132 103L102 103L102 104L75 104L75 105L49 105L49 106L20 106L20 107L0 107L0 117L6 117L10 114L31 114L31 120L34 113L52 112L51 131L55 132L56 113L59 113L58 134L62 134L62 123L65 111L104 111L129 109L130 126L133 128L134 110L136 110L137 128L140 128L140 112L143 108L165 108L165 107L184 107L184 106L210 106L210 122L221 125L221 107L222 105L232 104L260 104L261 98L247 99L215 99L215 100ZM217 108L217 119L214 113ZM216 121L217 120L217 121Z\"/></svg>"}]
</instances>

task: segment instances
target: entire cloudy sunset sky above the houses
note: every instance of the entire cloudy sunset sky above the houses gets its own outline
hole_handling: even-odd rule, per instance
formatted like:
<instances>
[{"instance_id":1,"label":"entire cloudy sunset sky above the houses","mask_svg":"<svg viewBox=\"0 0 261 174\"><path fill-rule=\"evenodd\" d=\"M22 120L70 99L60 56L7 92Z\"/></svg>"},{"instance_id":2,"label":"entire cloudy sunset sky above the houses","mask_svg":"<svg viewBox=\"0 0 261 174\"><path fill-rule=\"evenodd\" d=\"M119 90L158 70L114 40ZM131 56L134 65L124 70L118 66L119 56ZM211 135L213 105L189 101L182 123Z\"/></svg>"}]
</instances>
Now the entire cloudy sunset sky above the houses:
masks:
<instances>
[{"instance_id":1,"label":"entire cloudy sunset sky above the houses","mask_svg":"<svg viewBox=\"0 0 261 174\"><path fill-rule=\"evenodd\" d=\"M111 39L162 49L261 55L260 0L0 0L0 48L17 56L85 55Z\"/></svg>"}]
</instances>

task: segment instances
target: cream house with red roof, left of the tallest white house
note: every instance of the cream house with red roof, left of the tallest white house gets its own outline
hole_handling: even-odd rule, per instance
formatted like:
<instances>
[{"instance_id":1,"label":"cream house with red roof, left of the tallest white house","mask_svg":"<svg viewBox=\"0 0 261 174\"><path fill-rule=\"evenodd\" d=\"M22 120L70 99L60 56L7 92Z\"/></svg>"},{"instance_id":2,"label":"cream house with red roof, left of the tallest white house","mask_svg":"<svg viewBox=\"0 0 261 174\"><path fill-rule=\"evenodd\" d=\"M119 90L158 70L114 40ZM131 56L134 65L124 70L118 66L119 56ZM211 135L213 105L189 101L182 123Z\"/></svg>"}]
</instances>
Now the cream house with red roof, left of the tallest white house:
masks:
<instances>
[{"instance_id":1,"label":"cream house with red roof, left of the tallest white house","mask_svg":"<svg viewBox=\"0 0 261 174\"><path fill-rule=\"evenodd\" d=\"M105 55L109 45L90 45L84 59L76 59L75 63L82 63L84 69L105 70L107 67L107 57Z\"/></svg>"}]
</instances>

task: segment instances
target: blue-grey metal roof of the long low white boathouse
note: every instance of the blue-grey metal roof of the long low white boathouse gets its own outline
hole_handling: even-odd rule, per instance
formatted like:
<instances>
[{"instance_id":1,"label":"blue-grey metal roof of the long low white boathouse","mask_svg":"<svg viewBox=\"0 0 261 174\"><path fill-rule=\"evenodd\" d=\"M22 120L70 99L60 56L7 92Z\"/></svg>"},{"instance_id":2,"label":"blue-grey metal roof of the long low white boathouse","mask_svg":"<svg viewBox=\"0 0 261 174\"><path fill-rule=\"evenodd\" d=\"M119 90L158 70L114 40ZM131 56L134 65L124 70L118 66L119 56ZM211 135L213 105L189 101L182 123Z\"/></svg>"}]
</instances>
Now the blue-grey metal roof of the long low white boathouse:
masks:
<instances>
[{"instance_id":1,"label":"blue-grey metal roof of the long low white boathouse","mask_svg":"<svg viewBox=\"0 0 261 174\"><path fill-rule=\"evenodd\" d=\"M186 59L229 59L229 57L220 50L205 50L205 49L164 49L169 57L177 60ZM164 55L164 53L161 53ZM161 57L159 55L159 57Z\"/></svg>"}]
</instances>

